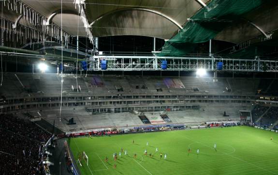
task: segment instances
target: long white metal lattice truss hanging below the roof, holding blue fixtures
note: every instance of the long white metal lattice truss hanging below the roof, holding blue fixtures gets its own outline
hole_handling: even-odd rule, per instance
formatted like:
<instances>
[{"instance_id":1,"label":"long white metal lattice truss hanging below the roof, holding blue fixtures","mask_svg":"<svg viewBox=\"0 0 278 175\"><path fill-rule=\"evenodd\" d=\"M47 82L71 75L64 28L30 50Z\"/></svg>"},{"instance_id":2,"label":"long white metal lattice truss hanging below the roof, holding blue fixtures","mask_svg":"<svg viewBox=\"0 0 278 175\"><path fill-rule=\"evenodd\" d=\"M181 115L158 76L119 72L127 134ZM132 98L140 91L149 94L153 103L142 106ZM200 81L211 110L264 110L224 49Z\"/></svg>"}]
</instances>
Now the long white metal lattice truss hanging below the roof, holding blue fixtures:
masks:
<instances>
[{"instance_id":1,"label":"long white metal lattice truss hanging below the roof, holding blue fixtures","mask_svg":"<svg viewBox=\"0 0 278 175\"><path fill-rule=\"evenodd\" d=\"M278 61L260 59L232 59L215 57L158 57L158 56L105 56L90 58L88 70L100 71L101 61L107 61L105 71L147 71L161 70L162 60L167 61L168 71L190 71L203 68L217 70L217 63L222 62L222 71L241 72L278 72Z\"/></svg>"}]
</instances>

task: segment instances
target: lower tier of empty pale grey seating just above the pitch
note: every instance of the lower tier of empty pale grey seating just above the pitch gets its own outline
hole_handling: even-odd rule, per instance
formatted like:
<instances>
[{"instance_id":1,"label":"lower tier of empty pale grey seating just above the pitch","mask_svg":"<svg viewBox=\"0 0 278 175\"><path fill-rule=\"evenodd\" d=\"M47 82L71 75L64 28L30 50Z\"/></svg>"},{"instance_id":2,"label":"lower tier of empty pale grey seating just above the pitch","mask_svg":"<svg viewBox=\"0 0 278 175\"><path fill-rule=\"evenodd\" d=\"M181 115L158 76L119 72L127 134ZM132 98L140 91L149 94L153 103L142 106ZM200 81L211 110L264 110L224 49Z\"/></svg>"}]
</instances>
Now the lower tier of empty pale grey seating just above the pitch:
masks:
<instances>
[{"instance_id":1,"label":"lower tier of empty pale grey seating just above the pitch","mask_svg":"<svg viewBox=\"0 0 278 175\"><path fill-rule=\"evenodd\" d=\"M168 117L173 123L201 123L208 121L226 121L226 120L239 120L238 111L247 109L246 106L234 105L202 105L200 109L190 109L184 111L170 111L167 113ZM229 117L224 117L223 112L226 111ZM97 113L86 111L82 107L63 108L61 111L61 121L59 122L59 109L45 110L42 112L44 120L53 124L63 131L77 131L92 128L103 127L132 127L143 125L138 115L135 113ZM148 115L147 115L148 116ZM69 119L74 118L76 125L67 125Z\"/></svg>"}]
</instances>

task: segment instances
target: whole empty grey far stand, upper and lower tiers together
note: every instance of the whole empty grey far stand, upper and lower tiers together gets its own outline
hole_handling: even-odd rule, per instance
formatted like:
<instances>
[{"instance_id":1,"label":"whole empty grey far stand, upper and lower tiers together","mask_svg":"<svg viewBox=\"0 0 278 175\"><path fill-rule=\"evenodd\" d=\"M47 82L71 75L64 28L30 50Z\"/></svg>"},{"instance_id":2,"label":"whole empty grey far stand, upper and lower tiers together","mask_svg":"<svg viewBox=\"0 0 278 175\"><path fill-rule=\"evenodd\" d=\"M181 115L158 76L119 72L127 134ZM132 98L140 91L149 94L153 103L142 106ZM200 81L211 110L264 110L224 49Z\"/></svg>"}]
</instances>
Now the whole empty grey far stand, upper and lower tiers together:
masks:
<instances>
[{"instance_id":1,"label":"whole empty grey far stand, upper and lower tiers together","mask_svg":"<svg viewBox=\"0 0 278 175\"><path fill-rule=\"evenodd\" d=\"M275 79L75 76L63 75L61 101L61 75L6 73L5 83L0 87L1 111L25 113L29 118L42 118L51 124L55 121L66 132L140 126L144 124L138 117L140 113L146 113L150 124L164 123L155 114L167 114L177 124L196 124L236 121L239 111L252 110L253 122L258 122L268 107L252 104L276 99L265 95L271 92L272 83L267 84L263 95L258 94L261 82ZM149 115L150 112L156 113ZM71 118L75 125L68 125ZM268 122L271 123L275 121Z\"/></svg>"}]
</instances>

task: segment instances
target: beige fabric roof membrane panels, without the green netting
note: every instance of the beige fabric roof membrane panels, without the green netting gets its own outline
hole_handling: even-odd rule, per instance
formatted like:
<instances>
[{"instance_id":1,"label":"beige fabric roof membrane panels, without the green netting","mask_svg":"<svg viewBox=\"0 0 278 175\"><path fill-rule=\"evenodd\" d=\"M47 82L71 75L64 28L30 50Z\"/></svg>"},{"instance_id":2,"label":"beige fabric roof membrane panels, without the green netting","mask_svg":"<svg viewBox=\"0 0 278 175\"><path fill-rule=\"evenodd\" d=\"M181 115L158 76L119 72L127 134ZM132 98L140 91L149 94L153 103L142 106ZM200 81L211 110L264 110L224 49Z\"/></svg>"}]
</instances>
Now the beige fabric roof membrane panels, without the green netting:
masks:
<instances>
[{"instance_id":1,"label":"beige fabric roof membrane panels, without the green netting","mask_svg":"<svg viewBox=\"0 0 278 175\"><path fill-rule=\"evenodd\" d=\"M46 18L52 15L52 21L59 26L62 8L63 29L71 35L77 35L77 32L79 35L86 35L84 24L78 18L79 9L74 0L63 0L62 6L60 0L22 1ZM227 0L202 0L205 4L217 4L220 1ZM228 1L234 3L234 0ZM244 5L248 1L237 2ZM188 22L188 18L203 7L200 2L201 0L86 0L85 12L94 36L145 35L170 39L179 29L178 26L183 26ZM215 39L239 43L261 34L247 21L259 26L264 32L277 29L278 19L275 17L278 15L277 4L276 0L269 0L260 5L252 13L244 16L246 20L234 21ZM4 14L13 21L18 16L11 11ZM78 21L79 28L77 28ZM26 20L22 18L20 23L26 24Z\"/></svg>"}]
</instances>

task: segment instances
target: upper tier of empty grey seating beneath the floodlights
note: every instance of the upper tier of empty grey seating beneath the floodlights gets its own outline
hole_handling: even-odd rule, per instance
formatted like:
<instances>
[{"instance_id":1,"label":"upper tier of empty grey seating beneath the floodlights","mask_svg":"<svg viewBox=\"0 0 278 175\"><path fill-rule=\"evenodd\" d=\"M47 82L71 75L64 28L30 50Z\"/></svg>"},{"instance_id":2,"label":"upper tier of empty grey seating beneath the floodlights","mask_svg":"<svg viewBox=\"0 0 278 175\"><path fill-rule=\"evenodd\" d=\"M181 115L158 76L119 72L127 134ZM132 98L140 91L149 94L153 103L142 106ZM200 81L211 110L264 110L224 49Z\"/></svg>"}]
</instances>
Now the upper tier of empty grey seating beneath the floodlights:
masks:
<instances>
[{"instance_id":1,"label":"upper tier of empty grey seating beneath the floodlights","mask_svg":"<svg viewBox=\"0 0 278 175\"><path fill-rule=\"evenodd\" d=\"M22 82L29 92L26 91L15 77L15 74L7 73L3 76L3 85L1 87L1 94L6 97L13 97L16 95L36 94L40 96L51 96L60 94L61 77L57 74L27 74L17 73L19 80ZM64 93L72 93L72 86L76 88L75 75L64 75L63 91ZM218 78L214 82L213 78L195 78L195 77L181 77L175 78L184 85L184 88L167 87L163 82L165 77L155 76L105 76L98 77L102 82L101 85L92 85L93 76L80 77L78 75L77 84L80 86L83 93L117 93L116 87L122 87L124 93L154 93L154 94L173 94L173 93L190 93L190 94L229 94L229 95L255 95L257 90L262 86L260 79L230 79ZM274 92L277 85L275 80L269 92ZM142 87L145 87L142 88ZM158 92L160 88L162 92ZM231 89L227 92L226 88ZM193 89L198 89L194 91Z\"/></svg>"}]
</instances>

